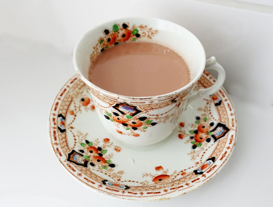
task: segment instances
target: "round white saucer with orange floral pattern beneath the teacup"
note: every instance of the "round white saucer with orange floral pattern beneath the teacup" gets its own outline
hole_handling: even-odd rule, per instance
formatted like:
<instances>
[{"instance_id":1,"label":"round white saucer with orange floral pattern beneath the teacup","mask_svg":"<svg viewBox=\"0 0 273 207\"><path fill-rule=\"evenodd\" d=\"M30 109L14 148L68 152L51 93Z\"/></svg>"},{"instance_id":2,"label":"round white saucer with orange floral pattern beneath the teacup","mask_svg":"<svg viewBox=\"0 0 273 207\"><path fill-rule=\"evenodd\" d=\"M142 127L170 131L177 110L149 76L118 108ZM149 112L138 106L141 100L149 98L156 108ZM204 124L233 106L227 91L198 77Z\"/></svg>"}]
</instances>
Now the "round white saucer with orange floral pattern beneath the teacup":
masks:
<instances>
[{"instance_id":1,"label":"round white saucer with orange floral pattern beneath the teacup","mask_svg":"<svg viewBox=\"0 0 273 207\"><path fill-rule=\"evenodd\" d=\"M204 72L192 92L214 82ZM224 88L190 103L177 129L146 147L117 141L95 110L85 84L74 75L52 105L49 139L59 162L74 178L116 198L162 200L193 191L222 169L235 145L237 119Z\"/></svg>"}]
</instances>

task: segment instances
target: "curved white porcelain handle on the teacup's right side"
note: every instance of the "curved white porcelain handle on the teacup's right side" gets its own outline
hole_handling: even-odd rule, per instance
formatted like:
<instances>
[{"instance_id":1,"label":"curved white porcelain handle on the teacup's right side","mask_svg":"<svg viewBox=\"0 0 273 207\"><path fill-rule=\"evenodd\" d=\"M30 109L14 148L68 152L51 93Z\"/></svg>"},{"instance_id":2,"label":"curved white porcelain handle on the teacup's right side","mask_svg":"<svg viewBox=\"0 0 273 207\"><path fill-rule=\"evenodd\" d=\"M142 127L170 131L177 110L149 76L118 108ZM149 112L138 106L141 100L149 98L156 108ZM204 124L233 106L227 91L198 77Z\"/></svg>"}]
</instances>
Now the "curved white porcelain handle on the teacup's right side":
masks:
<instances>
[{"instance_id":1,"label":"curved white porcelain handle on the teacup's right side","mask_svg":"<svg viewBox=\"0 0 273 207\"><path fill-rule=\"evenodd\" d=\"M223 85L225 81L226 73L224 68L218 62L216 62L216 59L214 56L206 60L205 70L207 69L213 69L218 72L218 78L216 82L209 88L199 89L197 92L191 94L187 100L186 107L189 105L190 102L198 98L204 98L206 96L209 96L217 92Z\"/></svg>"}]
</instances>

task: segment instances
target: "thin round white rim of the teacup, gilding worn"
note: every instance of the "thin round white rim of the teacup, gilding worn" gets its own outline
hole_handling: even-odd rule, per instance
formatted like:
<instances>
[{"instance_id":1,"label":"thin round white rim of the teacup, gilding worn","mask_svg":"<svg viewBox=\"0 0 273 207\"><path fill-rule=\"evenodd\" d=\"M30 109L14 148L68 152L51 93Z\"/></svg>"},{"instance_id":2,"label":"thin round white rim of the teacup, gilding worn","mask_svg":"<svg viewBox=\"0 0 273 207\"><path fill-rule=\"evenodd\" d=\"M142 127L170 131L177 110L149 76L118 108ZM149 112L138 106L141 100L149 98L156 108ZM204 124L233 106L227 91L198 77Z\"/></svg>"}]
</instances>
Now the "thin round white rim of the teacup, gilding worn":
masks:
<instances>
[{"instance_id":1,"label":"thin round white rim of the teacup, gilding worn","mask_svg":"<svg viewBox=\"0 0 273 207\"><path fill-rule=\"evenodd\" d=\"M77 60L76 60L76 52L79 51L79 46L80 46L80 43L82 42L82 40L85 38L86 35L89 35L90 33L92 33L94 30L96 30L97 27L101 27L105 24L108 24L109 22L118 22L118 21L128 21L128 19L143 19L143 20L154 20L154 21L161 21L161 22L167 22L168 24L173 24L175 26L178 26L178 27L181 27L183 28L184 30L186 30L188 33L190 33L191 35L193 35L195 38L196 38L196 42L197 44L200 44L201 46L201 49L202 49L202 52L204 54L203 56L203 66L202 66L202 70L200 70L197 75L187 84L187 85L184 85L182 88L179 88L173 92L169 92L169 93L166 93L166 94L162 94L162 95L154 95L154 96L140 96L140 97L133 97L133 96L126 96L126 95L119 95L119 94L116 94L116 93L113 93L113 92L110 92L110 91L106 91L105 89L103 88L100 88L98 86L96 86L95 84L93 84L92 82L90 82L80 71L79 71L79 68L77 66ZM151 99L160 99L160 98L164 98L164 97L168 97L168 96L173 96L173 95L176 95L180 92L183 92L184 90L190 88L190 86L194 85L195 82L197 82L199 80L199 78L202 76L203 74L203 71L204 71L204 68L205 68L205 65L206 65L206 54L205 54L205 50L204 50L204 47L202 45L202 43L200 42L200 40L192 33L190 32L188 29L184 28L183 26L181 25L178 25L174 22L171 22L171 21L168 21L168 20L165 20L165 19L160 19L160 18L150 18L150 17L124 17L124 18L117 18L117 19L113 19L113 20L109 20L107 22L103 22L93 28L91 28L89 31L87 31L79 40L78 42L76 43L76 46L73 50L73 65L74 65L74 68L76 70L76 73L77 75L79 76L79 78L81 78L83 80L83 82L85 84L87 84L89 87L95 89L96 91L99 91L107 96L110 96L110 97L113 97L113 98L119 98L119 99L124 99L124 100L151 100Z\"/></svg>"}]
</instances>

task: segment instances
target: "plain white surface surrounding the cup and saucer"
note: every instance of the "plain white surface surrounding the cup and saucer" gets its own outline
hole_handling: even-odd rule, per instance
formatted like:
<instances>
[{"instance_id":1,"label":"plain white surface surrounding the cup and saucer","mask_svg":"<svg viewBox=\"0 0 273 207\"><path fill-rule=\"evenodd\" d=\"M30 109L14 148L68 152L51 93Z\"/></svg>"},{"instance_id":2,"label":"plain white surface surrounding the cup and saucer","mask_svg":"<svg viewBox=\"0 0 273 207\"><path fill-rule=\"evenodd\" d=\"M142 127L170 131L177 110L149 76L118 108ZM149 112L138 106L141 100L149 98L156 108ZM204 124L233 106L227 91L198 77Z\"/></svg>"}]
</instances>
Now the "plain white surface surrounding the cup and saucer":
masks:
<instances>
[{"instance_id":1,"label":"plain white surface surrounding the cup and saucer","mask_svg":"<svg viewBox=\"0 0 273 207\"><path fill-rule=\"evenodd\" d=\"M273 179L273 16L195 1L0 2L0 206L271 206ZM200 39L226 69L238 118L223 170L178 198L138 203L90 191L59 164L47 135L51 104L75 73L72 49L89 28L112 18L152 16Z\"/></svg>"}]
</instances>

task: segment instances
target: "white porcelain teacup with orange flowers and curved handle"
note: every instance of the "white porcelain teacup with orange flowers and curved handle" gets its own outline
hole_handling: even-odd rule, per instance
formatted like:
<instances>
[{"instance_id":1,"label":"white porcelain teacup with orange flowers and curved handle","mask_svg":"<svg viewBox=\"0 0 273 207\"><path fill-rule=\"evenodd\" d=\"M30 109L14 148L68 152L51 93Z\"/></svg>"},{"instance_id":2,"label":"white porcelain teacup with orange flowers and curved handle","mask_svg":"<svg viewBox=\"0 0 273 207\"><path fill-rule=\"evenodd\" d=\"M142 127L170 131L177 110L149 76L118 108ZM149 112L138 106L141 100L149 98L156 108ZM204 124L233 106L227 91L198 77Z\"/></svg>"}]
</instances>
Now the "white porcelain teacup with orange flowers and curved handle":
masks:
<instances>
[{"instance_id":1,"label":"white porcelain teacup with orange flowers and curved handle","mask_svg":"<svg viewBox=\"0 0 273 207\"><path fill-rule=\"evenodd\" d=\"M140 31L137 35L132 32L126 42L141 39L142 42L158 43L173 49L183 57L190 70L190 82L174 92L150 97L114 94L90 82L90 61L111 46L102 44L102 40L107 39L108 33L122 29L120 25L124 23L128 26L127 29L130 30L133 26ZM119 41L123 39L120 38ZM201 42L191 32L173 22L156 18L122 18L96 26L77 43L73 63L77 74L89 89L105 129L116 139L135 146L152 145L165 139L177 127L187 105L216 92L225 79L224 68L214 57L206 60ZM206 69L218 72L217 81L210 88L199 89L189 95L194 83Z\"/></svg>"}]
</instances>

